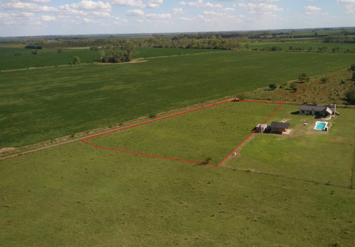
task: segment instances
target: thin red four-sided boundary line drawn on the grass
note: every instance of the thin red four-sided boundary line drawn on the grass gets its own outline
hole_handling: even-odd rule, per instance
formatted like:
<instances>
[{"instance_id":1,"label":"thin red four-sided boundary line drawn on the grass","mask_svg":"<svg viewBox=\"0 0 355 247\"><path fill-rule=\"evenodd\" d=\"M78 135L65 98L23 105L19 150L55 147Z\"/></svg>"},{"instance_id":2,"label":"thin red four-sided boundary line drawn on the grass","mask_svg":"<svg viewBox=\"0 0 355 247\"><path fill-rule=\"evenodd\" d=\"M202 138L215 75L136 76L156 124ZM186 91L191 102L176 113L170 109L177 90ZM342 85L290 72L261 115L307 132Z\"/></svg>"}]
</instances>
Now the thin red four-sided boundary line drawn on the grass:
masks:
<instances>
[{"instance_id":1,"label":"thin red four-sided boundary line drawn on the grass","mask_svg":"<svg viewBox=\"0 0 355 247\"><path fill-rule=\"evenodd\" d=\"M219 103L215 103L215 104L212 104L212 105L207 105L207 106L203 106L201 108L196 108L196 109L192 109L192 110L187 110L185 112L182 112L182 113L176 113L176 114L173 114L173 115L168 115L166 117L159 117L159 118L156 118L154 120L149 120L149 121L146 121L146 122L141 122L141 123L138 123L136 125L130 125L130 126L127 126L127 127L122 127L122 128L119 128L117 130L111 130L111 131L108 131L108 132L104 132L104 133L101 133L101 134L94 134L92 135L91 137L84 137L82 138L82 142L85 142L87 144L90 144L92 145L93 147L96 147L98 149L107 149L107 150L112 150L112 151L121 151L121 152L125 152L125 153L129 153L129 154L140 154L140 155L145 155L145 156L151 156L151 157L156 157L156 158L163 158L163 159L173 159L175 161L184 161L184 162L190 162L190 163L199 163L199 164L203 164L203 165L207 165L207 166L220 166L226 159L229 158L229 156L231 156L235 151L236 149L238 149L239 147L241 147L242 144L244 144L244 142L246 142L247 139L249 139L249 137L251 137L251 135L253 135L257 130L258 128L260 128L260 126L258 128L256 128L256 130L254 130L253 132L251 132L251 134L249 134L248 137L246 137L246 139L244 139L243 142L241 142L241 144L239 144L235 149L233 149L233 151L231 151L231 153L226 156L226 158L223 159L223 161L221 161L218 165L215 165L215 164L212 164L212 163L202 163L202 162L197 162L197 161L187 161L187 160L184 160L184 159L174 159L174 158L169 158L169 157L165 157L165 156L158 156L158 155L153 155L153 154L143 154L143 153L138 153L138 152L134 152L134 151L126 151L126 150L119 150L119 149L110 149L110 148L107 148L107 147L99 147L95 144L92 144L91 142L88 142L87 139L90 139L90 138L93 138L93 137L99 137L101 135L104 135L104 134L109 134L109 133L112 133L112 132L116 132L116 131L119 131L119 130L125 130L125 129L129 129L131 127L136 127L136 126L139 126L139 125L145 125L149 122L155 122L155 121L158 121L158 120L163 120L165 118L168 118L168 117L175 117L177 115L182 115L182 114L185 114L185 113L190 113L190 112L193 112L195 110L201 110L201 109L204 109L204 108L209 108L211 106L214 106L214 105L221 105L223 103L227 103L227 102L230 102L230 101L246 101L246 102L253 102L253 103L271 103L271 104L278 104L280 105L271 115L268 116L268 118L266 118L266 120L264 120L261 125L263 125L267 120L269 120L270 117L272 117L278 110L280 110L280 108L285 104L285 103L277 103L277 102L268 102L268 101L261 101L261 100L239 100L239 99L231 99L231 100L226 100L226 101L223 101L223 102L219 102Z\"/></svg>"}]
</instances>

